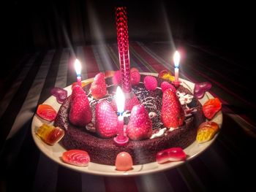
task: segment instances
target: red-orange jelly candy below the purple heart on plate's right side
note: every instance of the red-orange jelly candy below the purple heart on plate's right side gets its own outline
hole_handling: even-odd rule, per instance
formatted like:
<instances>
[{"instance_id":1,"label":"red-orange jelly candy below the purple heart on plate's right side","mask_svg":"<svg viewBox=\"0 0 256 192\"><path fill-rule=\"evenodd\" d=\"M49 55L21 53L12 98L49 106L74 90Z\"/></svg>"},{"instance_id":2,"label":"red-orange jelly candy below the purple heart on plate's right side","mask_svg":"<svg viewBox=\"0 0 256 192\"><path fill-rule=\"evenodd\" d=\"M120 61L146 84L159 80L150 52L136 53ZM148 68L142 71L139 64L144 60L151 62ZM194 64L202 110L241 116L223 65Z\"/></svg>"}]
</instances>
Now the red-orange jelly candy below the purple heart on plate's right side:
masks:
<instances>
[{"instance_id":1,"label":"red-orange jelly candy below the purple heart on plate's right side","mask_svg":"<svg viewBox=\"0 0 256 192\"><path fill-rule=\"evenodd\" d=\"M222 108L222 103L218 98L209 99L203 104L203 114L206 118L211 119Z\"/></svg>"}]
</instances>

